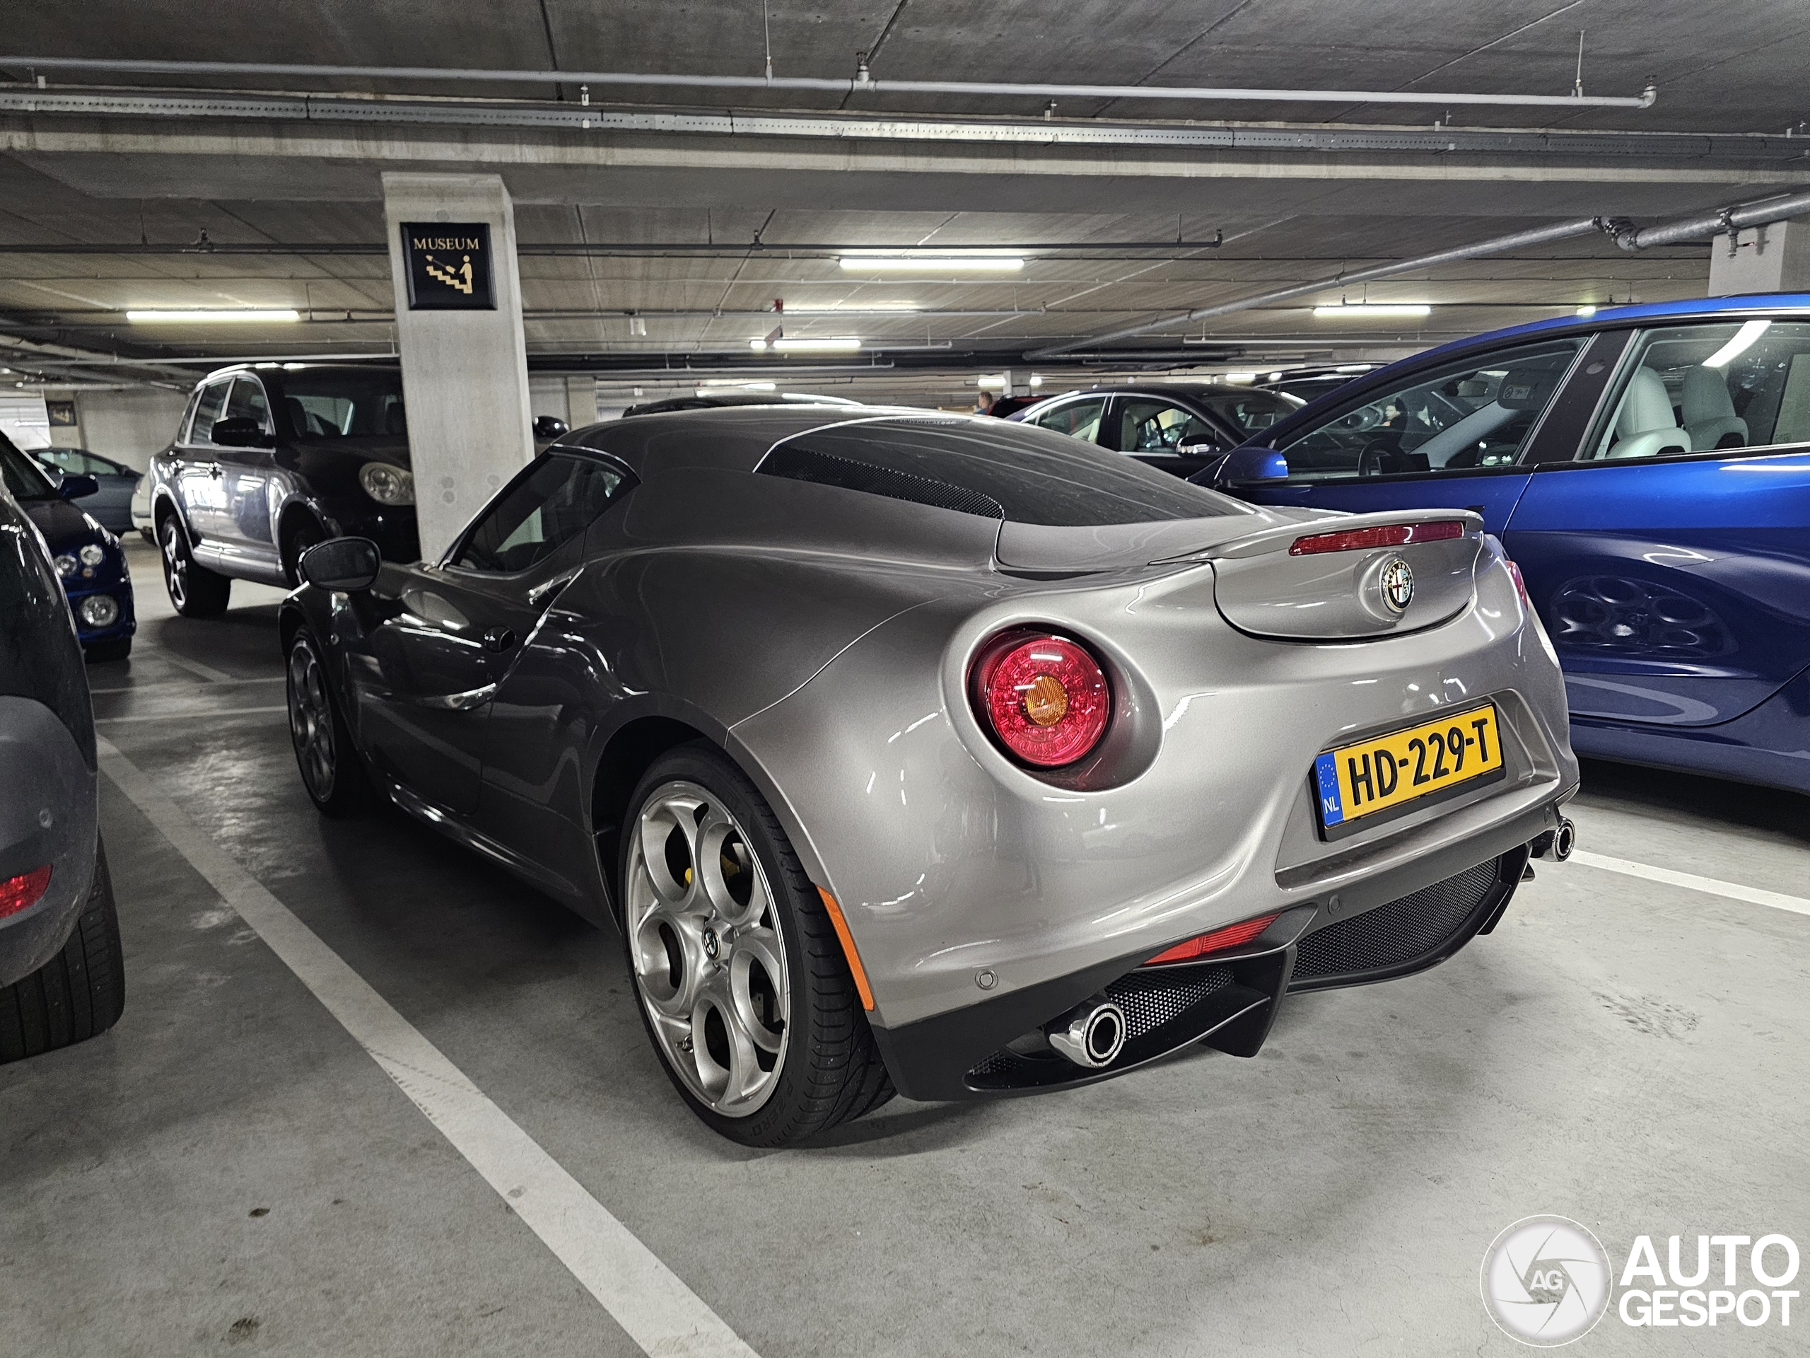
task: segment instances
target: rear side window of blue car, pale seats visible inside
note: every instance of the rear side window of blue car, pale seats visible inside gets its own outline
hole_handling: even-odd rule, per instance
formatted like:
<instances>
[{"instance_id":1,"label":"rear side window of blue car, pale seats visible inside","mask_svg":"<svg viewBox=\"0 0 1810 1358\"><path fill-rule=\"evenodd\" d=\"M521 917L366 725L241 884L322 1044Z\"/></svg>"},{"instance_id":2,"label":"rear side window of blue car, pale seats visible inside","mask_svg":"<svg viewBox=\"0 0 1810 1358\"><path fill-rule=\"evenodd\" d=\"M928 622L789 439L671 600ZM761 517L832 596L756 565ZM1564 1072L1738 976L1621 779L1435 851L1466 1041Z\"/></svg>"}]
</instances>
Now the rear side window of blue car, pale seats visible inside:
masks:
<instances>
[{"instance_id":1,"label":"rear side window of blue car, pale seats visible inside","mask_svg":"<svg viewBox=\"0 0 1810 1358\"><path fill-rule=\"evenodd\" d=\"M1810 444L1810 322L1723 320L1642 331L1584 460Z\"/></svg>"}]
</instances>

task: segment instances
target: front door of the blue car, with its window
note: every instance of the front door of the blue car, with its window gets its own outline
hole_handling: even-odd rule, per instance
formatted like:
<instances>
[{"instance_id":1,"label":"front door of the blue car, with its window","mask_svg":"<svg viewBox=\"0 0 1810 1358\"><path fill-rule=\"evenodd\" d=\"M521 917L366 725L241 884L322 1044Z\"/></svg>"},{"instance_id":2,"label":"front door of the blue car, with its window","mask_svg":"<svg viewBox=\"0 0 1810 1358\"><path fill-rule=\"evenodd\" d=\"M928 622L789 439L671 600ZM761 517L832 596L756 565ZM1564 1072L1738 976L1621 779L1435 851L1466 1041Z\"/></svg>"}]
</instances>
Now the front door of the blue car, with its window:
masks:
<instances>
[{"instance_id":1,"label":"front door of the blue car, with its window","mask_svg":"<svg viewBox=\"0 0 1810 1358\"><path fill-rule=\"evenodd\" d=\"M1238 493L1348 512L1473 509L1500 534L1533 467L1577 453L1578 426L1625 339L1522 340L1367 384L1325 420L1278 440L1287 482Z\"/></svg>"}]
</instances>

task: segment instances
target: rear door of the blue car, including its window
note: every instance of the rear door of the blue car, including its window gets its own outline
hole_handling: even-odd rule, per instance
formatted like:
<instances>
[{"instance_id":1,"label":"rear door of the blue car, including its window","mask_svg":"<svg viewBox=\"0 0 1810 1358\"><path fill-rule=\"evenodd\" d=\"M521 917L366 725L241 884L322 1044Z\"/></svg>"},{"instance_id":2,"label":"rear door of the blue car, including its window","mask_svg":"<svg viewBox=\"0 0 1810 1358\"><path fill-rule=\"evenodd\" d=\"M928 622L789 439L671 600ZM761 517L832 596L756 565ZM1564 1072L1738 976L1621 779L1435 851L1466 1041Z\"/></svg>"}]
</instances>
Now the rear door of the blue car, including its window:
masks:
<instances>
[{"instance_id":1,"label":"rear door of the blue car, including its window","mask_svg":"<svg viewBox=\"0 0 1810 1358\"><path fill-rule=\"evenodd\" d=\"M1504 534L1573 717L1714 726L1810 668L1810 320L1656 326Z\"/></svg>"}]
</instances>

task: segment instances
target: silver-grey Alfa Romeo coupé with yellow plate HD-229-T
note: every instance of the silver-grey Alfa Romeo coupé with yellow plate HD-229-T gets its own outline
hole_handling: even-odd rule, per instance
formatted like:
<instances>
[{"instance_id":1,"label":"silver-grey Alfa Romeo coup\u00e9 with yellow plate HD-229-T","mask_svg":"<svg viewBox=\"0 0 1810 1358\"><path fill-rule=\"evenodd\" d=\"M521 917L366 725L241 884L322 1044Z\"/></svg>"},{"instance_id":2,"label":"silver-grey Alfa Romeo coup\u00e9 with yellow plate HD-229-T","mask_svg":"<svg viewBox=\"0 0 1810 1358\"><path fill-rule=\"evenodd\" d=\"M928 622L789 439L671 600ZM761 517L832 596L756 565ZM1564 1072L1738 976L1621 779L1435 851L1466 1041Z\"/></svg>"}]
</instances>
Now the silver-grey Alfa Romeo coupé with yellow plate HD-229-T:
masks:
<instances>
[{"instance_id":1,"label":"silver-grey Alfa Romeo coup\u00e9 with yellow plate HD-229-T","mask_svg":"<svg viewBox=\"0 0 1810 1358\"><path fill-rule=\"evenodd\" d=\"M1262 509L847 406L567 435L438 561L282 607L313 800L393 800L624 938L672 1083L778 1146L896 1090L1253 1056L1490 932L1577 789L1475 514Z\"/></svg>"}]
</instances>

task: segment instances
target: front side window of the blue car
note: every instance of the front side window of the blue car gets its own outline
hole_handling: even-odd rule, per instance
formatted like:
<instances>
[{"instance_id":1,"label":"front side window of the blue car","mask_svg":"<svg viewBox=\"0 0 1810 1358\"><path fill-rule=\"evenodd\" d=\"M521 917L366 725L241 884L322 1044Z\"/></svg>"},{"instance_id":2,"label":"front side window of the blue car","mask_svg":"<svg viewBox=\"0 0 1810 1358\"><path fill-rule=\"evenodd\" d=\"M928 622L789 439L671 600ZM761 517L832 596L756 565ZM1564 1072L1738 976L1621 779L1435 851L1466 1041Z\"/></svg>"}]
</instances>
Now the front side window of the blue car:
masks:
<instances>
[{"instance_id":1,"label":"front side window of the blue car","mask_svg":"<svg viewBox=\"0 0 1810 1358\"><path fill-rule=\"evenodd\" d=\"M1280 449L1289 480L1510 467L1587 339L1499 349L1368 395Z\"/></svg>"}]
</instances>

